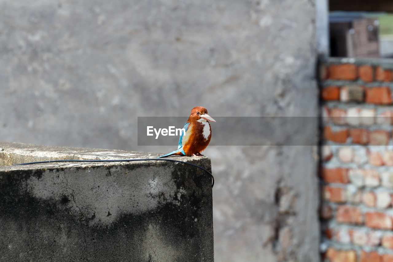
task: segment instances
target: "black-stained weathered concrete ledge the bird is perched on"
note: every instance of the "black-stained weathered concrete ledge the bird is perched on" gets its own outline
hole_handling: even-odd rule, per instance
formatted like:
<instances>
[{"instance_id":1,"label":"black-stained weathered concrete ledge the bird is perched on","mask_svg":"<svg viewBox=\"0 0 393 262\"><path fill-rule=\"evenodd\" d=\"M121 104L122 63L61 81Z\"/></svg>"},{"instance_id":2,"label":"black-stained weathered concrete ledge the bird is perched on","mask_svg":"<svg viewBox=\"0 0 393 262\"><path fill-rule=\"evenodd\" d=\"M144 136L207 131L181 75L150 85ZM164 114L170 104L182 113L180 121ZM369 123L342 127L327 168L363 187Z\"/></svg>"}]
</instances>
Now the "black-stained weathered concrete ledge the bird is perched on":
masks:
<instances>
[{"instance_id":1,"label":"black-stained weathered concrete ledge the bird is perched on","mask_svg":"<svg viewBox=\"0 0 393 262\"><path fill-rule=\"evenodd\" d=\"M0 143L2 165L121 158L152 157ZM0 260L213 261L211 194L209 175L173 162L0 166Z\"/></svg>"}]
</instances>

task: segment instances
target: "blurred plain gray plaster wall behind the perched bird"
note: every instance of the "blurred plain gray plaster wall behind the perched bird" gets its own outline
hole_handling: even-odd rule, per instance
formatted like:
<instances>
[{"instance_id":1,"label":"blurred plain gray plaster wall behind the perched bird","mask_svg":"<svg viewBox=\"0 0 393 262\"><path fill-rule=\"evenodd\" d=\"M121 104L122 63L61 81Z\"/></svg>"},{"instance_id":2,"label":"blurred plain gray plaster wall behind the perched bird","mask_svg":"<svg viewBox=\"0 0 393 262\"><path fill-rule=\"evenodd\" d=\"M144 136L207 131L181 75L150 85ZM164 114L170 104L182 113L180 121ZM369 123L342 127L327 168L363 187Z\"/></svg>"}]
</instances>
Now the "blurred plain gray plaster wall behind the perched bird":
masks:
<instances>
[{"instance_id":1,"label":"blurred plain gray plaster wall behind the perched bird","mask_svg":"<svg viewBox=\"0 0 393 262\"><path fill-rule=\"evenodd\" d=\"M310 116L312 0L0 1L0 137L140 147L137 116ZM213 138L214 140L213 123ZM280 126L275 127L280 129ZM233 138L236 139L236 138ZM215 261L318 261L317 150L208 147Z\"/></svg>"}]
</instances>

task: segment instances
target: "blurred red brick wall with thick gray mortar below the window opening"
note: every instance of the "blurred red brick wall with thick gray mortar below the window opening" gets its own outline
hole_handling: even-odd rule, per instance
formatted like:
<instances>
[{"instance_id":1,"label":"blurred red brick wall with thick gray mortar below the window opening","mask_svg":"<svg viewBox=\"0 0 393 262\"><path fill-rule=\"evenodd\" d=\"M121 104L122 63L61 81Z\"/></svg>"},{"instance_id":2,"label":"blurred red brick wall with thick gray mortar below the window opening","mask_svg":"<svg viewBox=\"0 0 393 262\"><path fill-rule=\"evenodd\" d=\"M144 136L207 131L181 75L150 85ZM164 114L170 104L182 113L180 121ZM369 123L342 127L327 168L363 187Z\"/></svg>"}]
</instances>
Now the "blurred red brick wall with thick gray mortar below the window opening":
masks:
<instances>
[{"instance_id":1,"label":"blurred red brick wall with thick gray mortar below the window opening","mask_svg":"<svg viewBox=\"0 0 393 262\"><path fill-rule=\"evenodd\" d=\"M393 62L320 66L321 252L331 262L393 262Z\"/></svg>"}]
</instances>

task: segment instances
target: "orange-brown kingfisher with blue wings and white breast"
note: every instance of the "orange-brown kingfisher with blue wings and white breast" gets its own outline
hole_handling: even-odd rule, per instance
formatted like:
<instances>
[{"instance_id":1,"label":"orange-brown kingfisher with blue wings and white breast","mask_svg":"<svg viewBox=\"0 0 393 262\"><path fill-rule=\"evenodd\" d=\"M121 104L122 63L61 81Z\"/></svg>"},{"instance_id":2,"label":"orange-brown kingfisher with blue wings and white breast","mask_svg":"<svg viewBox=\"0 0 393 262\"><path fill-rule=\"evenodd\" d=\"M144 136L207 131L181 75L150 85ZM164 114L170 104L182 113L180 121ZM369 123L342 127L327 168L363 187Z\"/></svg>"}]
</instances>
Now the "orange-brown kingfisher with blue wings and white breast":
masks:
<instances>
[{"instance_id":1,"label":"orange-brown kingfisher with blue wings and white breast","mask_svg":"<svg viewBox=\"0 0 393 262\"><path fill-rule=\"evenodd\" d=\"M191 114L183 127L185 133L180 136L177 150L161 157L168 157L170 155L203 157L200 152L206 149L211 138L209 121L216 122L216 120L208 115L206 108L194 107L191 109Z\"/></svg>"}]
</instances>

